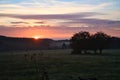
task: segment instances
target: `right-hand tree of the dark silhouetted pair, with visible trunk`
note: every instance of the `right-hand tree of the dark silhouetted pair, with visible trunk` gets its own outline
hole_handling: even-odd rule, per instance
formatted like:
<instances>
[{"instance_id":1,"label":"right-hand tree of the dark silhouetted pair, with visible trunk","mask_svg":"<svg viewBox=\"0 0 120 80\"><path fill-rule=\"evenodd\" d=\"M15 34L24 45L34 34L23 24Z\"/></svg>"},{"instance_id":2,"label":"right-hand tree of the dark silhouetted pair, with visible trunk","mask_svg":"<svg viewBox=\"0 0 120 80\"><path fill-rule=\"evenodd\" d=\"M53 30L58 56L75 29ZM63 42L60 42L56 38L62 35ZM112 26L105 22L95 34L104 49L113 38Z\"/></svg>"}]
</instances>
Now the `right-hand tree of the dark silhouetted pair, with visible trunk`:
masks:
<instances>
[{"instance_id":1,"label":"right-hand tree of the dark silhouetted pair, with visible trunk","mask_svg":"<svg viewBox=\"0 0 120 80\"><path fill-rule=\"evenodd\" d=\"M103 33L103 32L97 32L92 37L92 48L96 51L99 50L100 54L102 53L102 50L107 48L107 45L110 42L110 36Z\"/></svg>"}]
</instances>

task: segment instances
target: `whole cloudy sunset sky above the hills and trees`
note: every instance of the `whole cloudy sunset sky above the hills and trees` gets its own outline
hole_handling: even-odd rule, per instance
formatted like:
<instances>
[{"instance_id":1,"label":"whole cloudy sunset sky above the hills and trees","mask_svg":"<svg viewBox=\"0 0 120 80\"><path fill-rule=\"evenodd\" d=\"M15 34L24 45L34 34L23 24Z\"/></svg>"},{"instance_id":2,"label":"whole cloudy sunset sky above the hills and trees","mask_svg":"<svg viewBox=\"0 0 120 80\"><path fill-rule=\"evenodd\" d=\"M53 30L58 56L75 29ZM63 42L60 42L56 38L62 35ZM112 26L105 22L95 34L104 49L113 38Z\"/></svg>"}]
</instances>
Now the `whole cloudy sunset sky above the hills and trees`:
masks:
<instances>
[{"instance_id":1,"label":"whole cloudy sunset sky above the hills and trees","mask_svg":"<svg viewBox=\"0 0 120 80\"><path fill-rule=\"evenodd\" d=\"M120 37L120 0L0 0L0 35L69 39L80 31Z\"/></svg>"}]
</instances>

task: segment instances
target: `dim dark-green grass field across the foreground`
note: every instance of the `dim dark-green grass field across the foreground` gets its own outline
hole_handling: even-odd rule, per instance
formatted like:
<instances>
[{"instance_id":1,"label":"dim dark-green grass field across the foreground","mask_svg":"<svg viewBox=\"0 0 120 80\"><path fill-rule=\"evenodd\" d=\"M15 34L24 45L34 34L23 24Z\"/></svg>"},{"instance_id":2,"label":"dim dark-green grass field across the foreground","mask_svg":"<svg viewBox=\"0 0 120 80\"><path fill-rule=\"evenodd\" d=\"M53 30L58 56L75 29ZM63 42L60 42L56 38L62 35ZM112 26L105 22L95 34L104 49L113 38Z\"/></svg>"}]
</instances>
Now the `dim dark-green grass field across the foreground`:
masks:
<instances>
[{"instance_id":1,"label":"dim dark-green grass field across the foreground","mask_svg":"<svg viewBox=\"0 0 120 80\"><path fill-rule=\"evenodd\" d=\"M2 52L0 80L41 80L43 67L50 80L78 80L79 76L120 80L120 50L104 50L101 55L71 55L70 52L71 50ZM31 57L32 55L34 56Z\"/></svg>"}]
</instances>

